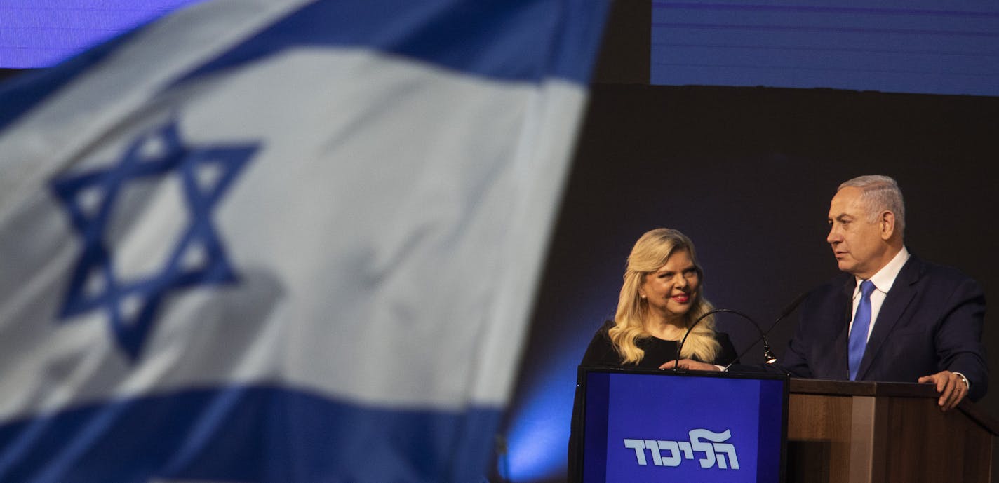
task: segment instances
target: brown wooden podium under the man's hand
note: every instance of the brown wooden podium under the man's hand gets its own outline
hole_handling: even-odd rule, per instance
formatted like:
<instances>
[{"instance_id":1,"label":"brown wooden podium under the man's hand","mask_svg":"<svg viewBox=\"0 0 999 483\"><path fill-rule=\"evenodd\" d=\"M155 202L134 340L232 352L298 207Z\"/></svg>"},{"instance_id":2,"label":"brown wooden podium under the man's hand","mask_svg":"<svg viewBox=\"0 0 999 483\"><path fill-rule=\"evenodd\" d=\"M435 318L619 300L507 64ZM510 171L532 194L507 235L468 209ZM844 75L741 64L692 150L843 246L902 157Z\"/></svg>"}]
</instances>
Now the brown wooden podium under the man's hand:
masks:
<instances>
[{"instance_id":1,"label":"brown wooden podium under the man's hand","mask_svg":"<svg viewBox=\"0 0 999 483\"><path fill-rule=\"evenodd\" d=\"M999 423L933 385L791 379L787 482L989 483Z\"/></svg>"}]
</instances>

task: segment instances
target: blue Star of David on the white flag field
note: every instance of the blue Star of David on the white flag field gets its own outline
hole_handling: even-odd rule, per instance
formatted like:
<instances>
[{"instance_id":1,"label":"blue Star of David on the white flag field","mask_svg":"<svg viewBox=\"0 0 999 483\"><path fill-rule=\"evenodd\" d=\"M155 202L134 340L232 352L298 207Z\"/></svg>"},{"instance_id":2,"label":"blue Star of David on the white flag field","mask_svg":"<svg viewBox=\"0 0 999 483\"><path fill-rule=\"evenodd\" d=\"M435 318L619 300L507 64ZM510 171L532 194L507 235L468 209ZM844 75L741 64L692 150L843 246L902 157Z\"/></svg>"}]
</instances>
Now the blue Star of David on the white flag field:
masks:
<instances>
[{"instance_id":1,"label":"blue Star of David on the white flag field","mask_svg":"<svg viewBox=\"0 0 999 483\"><path fill-rule=\"evenodd\" d=\"M144 148L159 145L150 154ZM73 228L83 241L83 251L70 278L59 318L103 309L116 342L131 360L136 360L152 329L157 309L174 290L196 285L235 283L237 274L226 257L225 246L212 225L212 210L250 161L258 145L194 148L183 144L175 122L140 135L124 156L109 167L53 180L52 190L69 213ZM218 170L208 183L199 182L204 169ZM114 253L105 241L111 215L123 187L136 181L178 176L190 223L177 235L176 244L158 271L136 279L123 279L115 271ZM87 213L81 195L96 192L96 209ZM170 241L167 241L170 242ZM191 250L201 250L200 262L182 263ZM88 290L97 278L99 289ZM137 301L126 313L126 299Z\"/></svg>"}]
</instances>

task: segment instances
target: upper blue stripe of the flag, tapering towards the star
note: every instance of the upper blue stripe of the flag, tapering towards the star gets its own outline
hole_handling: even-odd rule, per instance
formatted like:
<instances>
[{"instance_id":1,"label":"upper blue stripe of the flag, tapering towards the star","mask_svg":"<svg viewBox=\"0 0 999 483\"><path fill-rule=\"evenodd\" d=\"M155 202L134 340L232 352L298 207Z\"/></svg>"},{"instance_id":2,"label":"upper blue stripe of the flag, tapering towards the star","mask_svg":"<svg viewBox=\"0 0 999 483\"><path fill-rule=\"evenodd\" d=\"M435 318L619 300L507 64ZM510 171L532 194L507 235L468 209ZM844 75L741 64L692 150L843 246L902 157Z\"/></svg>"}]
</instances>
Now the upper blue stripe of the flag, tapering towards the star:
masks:
<instances>
[{"instance_id":1,"label":"upper blue stripe of the flag, tapering towards the star","mask_svg":"<svg viewBox=\"0 0 999 483\"><path fill-rule=\"evenodd\" d=\"M187 77L293 46L341 46L374 48L502 80L538 83L558 77L585 84L607 8L602 0L367 3L364 8L352 2L306 6ZM538 50L550 55L526 55Z\"/></svg>"}]
</instances>

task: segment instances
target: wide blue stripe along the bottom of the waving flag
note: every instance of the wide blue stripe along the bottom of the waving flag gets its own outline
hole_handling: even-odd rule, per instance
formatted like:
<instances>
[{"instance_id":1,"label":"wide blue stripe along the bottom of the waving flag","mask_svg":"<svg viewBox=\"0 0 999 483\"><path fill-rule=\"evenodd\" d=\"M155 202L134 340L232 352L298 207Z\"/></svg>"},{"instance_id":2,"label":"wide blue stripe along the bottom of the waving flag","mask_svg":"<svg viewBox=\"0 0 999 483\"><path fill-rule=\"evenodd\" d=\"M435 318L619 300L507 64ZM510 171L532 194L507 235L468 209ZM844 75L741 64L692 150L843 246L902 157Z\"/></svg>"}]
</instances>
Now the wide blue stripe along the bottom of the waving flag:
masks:
<instances>
[{"instance_id":1,"label":"wide blue stripe along the bottom of the waving flag","mask_svg":"<svg viewBox=\"0 0 999 483\"><path fill-rule=\"evenodd\" d=\"M492 443L482 436L499 423L497 409L388 410L275 387L193 389L0 426L0 481L479 481Z\"/></svg>"}]
</instances>

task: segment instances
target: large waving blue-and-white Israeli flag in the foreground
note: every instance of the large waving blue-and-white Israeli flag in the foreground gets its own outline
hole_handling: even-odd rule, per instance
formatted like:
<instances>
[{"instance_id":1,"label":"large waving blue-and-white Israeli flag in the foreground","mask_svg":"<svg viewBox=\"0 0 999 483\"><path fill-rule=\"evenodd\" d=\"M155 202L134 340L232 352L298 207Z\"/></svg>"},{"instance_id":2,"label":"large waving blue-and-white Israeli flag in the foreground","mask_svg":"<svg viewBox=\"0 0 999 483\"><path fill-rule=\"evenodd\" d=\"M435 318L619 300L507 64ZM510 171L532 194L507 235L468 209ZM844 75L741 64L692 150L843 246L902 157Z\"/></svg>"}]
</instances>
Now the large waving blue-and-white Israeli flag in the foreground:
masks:
<instances>
[{"instance_id":1,"label":"large waving blue-and-white Israeli flag in the foreground","mask_svg":"<svg viewBox=\"0 0 999 483\"><path fill-rule=\"evenodd\" d=\"M222 0L15 78L0 481L483 481L605 7Z\"/></svg>"}]
</instances>

